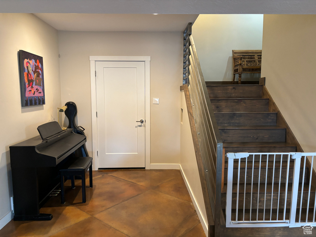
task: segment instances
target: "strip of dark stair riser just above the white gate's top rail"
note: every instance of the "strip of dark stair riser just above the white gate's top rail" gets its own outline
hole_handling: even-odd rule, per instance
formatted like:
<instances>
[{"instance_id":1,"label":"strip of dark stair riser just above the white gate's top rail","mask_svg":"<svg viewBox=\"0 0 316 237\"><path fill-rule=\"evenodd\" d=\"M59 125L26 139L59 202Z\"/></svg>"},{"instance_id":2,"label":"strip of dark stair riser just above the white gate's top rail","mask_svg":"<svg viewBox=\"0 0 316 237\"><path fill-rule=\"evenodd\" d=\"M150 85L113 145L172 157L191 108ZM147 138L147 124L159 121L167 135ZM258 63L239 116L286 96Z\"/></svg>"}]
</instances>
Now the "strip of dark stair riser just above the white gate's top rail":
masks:
<instances>
[{"instance_id":1,"label":"strip of dark stair riser just above the white gate's top rail","mask_svg":"<svg viewBox=\"0 0 316 237\"><path fill-rule=\"evenodd\" d=\"M232 152L295 152L296 147L224 147L225 153Z\"/></svg>"}]
</instances>

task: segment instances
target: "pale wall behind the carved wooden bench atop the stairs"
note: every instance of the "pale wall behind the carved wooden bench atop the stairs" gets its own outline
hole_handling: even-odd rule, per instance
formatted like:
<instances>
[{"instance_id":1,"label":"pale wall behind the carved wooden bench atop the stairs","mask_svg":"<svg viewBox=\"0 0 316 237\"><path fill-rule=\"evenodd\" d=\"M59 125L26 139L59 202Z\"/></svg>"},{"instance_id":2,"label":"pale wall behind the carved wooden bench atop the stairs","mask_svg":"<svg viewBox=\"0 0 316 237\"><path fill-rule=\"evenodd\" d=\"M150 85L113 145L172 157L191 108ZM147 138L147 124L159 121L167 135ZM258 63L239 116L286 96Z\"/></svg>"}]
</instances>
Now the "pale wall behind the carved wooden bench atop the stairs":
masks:
<instances>
[{"instance_id":1,"label":"pale wall behind the carved wooden bench atop the stairs","mask_svg":"<svg viewBox=\"0 0 316 237\"><path fill-rule=\"evenodd\" d=\"M192 36L205 81L231 81L233 49L261 49L263 15L199 15ZM238 77L238 75L236 76ZM244 74L243 80L259 78ZM238 80L236 78L236 80Z\"/></svg>"}]
</instances>

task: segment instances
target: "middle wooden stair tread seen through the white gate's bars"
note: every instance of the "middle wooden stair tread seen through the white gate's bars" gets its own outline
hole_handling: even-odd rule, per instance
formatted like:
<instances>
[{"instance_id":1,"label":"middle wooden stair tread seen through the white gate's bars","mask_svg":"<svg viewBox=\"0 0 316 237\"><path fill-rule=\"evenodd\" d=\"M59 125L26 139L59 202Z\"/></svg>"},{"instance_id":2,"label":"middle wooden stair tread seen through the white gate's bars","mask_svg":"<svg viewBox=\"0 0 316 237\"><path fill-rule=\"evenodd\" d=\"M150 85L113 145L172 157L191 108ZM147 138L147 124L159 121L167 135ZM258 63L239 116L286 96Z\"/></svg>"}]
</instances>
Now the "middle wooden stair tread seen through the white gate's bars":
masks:
<instances>
[{"instance_id":1,"label":"middle wooden stair tread seen through the white gate's bars","mask_svg":"<svg viewBox=\"0 0 316 237\"><path fill-rule=\"evenodd\" d=\"M284 193L285 192L285 183L281 183L280 185L280 193ZM267 184L267 193L271 193L271 189L272 189L272 183L268 183ZM239 185L239 193L244 193L245 190L245 186L244 184L240 184ZM301 194L301 190L302 190L302 185L299 185L299 194ZM264 193L265 191L265 185L263 183L260 183L259 186L259 193ZM233 193L237 192L237 185L233 184ZM273 185L273 193L278 193L279 192L279 184L278 183L274 183ZM292 192L292 183L289 183L288 185L288 193ZM227 184L224 184L224 188L222 193L227 193ZM251 184L246 184L246 193L251 193ZM252 186L252 193L258 193L258 183L254 183ZM308 193L308 185L304 185L303 186L303 193ZM315 193L315 186L311 185L311 193ZM313 201L313 200L312 200Z\"/></svg>"}]
</instances>

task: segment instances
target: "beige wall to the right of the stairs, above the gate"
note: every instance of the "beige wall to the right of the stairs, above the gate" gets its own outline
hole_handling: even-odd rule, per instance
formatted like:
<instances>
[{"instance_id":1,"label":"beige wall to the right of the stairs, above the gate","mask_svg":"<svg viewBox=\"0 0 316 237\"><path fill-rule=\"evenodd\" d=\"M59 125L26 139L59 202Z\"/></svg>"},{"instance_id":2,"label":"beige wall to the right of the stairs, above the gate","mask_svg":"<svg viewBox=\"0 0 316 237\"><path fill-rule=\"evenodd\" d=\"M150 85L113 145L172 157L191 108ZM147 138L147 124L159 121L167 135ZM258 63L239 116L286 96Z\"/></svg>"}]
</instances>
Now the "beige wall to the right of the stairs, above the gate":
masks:
<instances>
[{"instance_id":1,"label":"beige wall to the right of the stairs, above the gate","mask_svg":"<svg viewBox=\"0 0 316 237\"><path fill-rule=\"evenodd\" d=\"M305 152L316 151L316 15L264 15L262 76Z\"/></svg>"}]
</instances>

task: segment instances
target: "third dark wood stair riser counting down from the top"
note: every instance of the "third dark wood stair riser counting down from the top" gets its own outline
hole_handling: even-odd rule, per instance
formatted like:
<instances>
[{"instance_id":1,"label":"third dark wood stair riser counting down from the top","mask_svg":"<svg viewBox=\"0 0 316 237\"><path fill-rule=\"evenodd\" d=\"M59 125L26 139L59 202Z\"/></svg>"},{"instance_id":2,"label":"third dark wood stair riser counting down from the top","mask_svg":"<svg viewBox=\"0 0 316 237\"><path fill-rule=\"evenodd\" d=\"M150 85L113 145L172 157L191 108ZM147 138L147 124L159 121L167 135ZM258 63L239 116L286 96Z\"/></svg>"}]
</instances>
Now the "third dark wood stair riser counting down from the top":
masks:
<instances>
[{"instance_id":1,"label":"third dark wood stair riser counting down from the top","mask_svg":"<svg viewBox=\"0 0 316 237\"><path fill-rule=\"evenodd\" d=\"M215 113L218 126L276 125L276 113Z\"/></svg>"}]
</instances>

